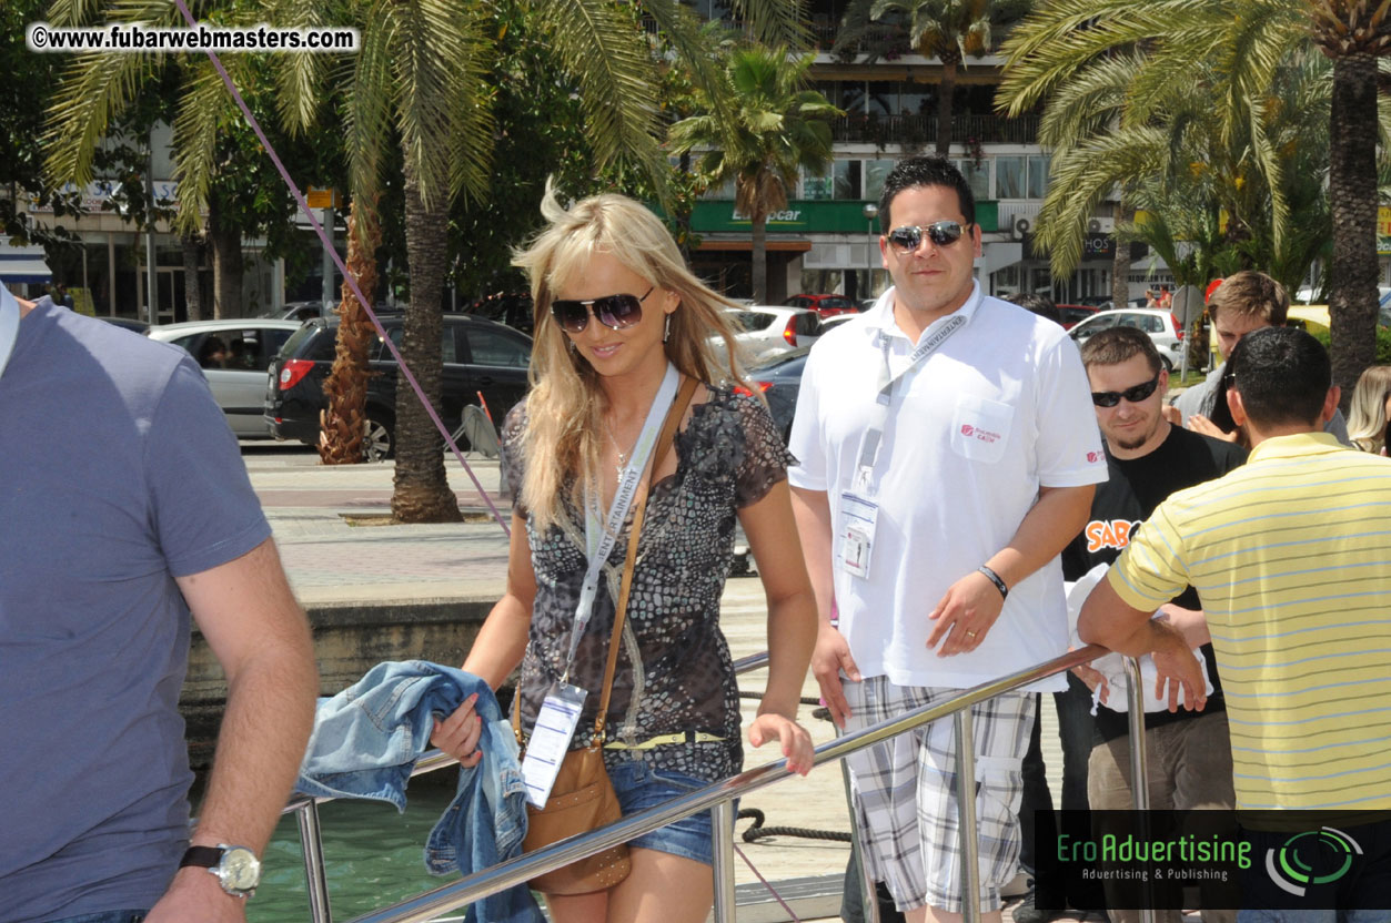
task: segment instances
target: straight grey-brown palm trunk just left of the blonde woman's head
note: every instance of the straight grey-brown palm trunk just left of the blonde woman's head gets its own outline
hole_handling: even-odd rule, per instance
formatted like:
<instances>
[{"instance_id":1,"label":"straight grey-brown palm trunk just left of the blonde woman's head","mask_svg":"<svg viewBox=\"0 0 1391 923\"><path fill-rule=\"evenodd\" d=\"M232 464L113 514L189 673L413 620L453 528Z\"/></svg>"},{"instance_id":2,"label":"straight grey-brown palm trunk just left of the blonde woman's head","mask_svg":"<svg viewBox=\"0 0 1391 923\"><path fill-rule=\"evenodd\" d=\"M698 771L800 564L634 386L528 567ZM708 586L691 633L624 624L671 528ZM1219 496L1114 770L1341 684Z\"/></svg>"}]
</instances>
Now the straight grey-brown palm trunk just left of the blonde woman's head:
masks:
<instances>
[{"instance_id":1,"label":"straight grey-brown palm trunk just left of the blonde woman's head","mask_svg":"<svg viewBox=\"0 0 1391 923\"><path fill-rule=\"evenodd\" d=\"M426 398L440 410L444 386L444 275L448 266L449 210L437 197L427 209L420 179L406 152L406 259L410 263L410 304L406 307L401 356ZM444 438L420 405L405 374L396 377L396 473L391 513L399 523L458 523L459 502L444 471Z\"/></svg>"}]
</instances>

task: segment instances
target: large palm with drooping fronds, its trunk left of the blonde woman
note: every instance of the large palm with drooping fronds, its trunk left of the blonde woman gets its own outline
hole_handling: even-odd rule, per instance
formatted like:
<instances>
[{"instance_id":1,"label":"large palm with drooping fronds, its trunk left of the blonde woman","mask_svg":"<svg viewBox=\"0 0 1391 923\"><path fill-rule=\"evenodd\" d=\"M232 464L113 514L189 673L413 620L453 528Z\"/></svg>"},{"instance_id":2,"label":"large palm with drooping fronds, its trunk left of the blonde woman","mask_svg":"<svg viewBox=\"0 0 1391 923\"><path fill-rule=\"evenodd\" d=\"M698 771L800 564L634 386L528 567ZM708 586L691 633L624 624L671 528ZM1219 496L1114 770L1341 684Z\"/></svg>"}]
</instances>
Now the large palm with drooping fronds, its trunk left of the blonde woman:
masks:
<instances>
[{"instance_id":1,"label":"large palm with drooping fronds, its trunk left of the blonde woman","mask_svg":"<svg viewBox=\"0 0 1391 923\"><path fill-rule=\"evenodd\" d=\"M352 24L362 33L351 74L334 74L323 56L284 56L282 113L291 125L307 128L337 78L332 85L348 100L345 143L355 209L374 200L385 145L398 140L410 270L401 352L426 398L438 407L448 203L460 189L487 195L492 126L484 64L499 31L520 11L526 28L548 38L562 70L574 81L597 165L626 161L659 181L666 164L657 143L659 113L650 103L658 61L633 14L605 0L274 0L273 6L284 25ZM640 6L690 64L693 79L712 83L718 74L690 11L676 0L644 0ZM794 0L736 6L771 33L800 35ZM356 393L359 388L348 381L345 391ZM392 514L412 523L456 520L442 438L413 389L402 382L396 393Z\"/></svg>"}]
</instances>

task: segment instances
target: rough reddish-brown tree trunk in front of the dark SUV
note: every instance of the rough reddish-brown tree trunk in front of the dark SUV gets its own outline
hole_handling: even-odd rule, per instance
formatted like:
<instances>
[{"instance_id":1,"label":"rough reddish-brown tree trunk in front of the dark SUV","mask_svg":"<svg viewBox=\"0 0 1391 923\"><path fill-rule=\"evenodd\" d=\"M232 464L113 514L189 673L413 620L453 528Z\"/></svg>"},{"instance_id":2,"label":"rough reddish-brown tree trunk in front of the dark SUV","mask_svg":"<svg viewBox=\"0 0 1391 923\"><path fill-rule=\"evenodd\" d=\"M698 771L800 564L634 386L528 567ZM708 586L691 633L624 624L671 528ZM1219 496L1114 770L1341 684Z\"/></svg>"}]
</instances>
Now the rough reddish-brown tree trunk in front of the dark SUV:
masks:
<instances>
[{"instance_id":1,"label":"rough reddish-brown tree trunk in front of the dark SUV","mask_svg":"<svg viewBox=\"0 0 1391 923\"><path fill-rule=\"evenodd\" d=\"M348 213L348 272L369 299L377 291L380 243L376 203L353 199ZM319 414L319 459L324 464L357 464L363 460L362 436L367 427L367 349L377 331L346 279L338 317L334 367L324 379L328 406Z\"/></svg>"}]
</instances>

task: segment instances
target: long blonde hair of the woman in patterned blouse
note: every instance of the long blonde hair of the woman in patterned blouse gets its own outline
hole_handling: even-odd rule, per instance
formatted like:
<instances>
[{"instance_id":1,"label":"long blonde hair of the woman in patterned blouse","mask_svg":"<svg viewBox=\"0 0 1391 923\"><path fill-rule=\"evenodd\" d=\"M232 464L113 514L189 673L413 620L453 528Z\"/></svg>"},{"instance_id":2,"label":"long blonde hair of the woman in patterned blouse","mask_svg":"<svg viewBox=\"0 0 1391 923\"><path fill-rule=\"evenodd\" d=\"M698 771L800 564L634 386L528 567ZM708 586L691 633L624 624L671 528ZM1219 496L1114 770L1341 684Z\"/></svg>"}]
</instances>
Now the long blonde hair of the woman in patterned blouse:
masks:
<instances>
[{"instance_id":1,"label":"long blonde hair of the woman in patterned blouse","mask_svg":"<svg viewBox=\"0 0 1391 923\"><path fill-rule=\"evenodd\" d=\"M565 209L548 185L541 214L549 221L512 264L531 279L536 332L531 343L531 392L523 436L522 505L537 530L561 521L561 491L583 507L586 491L597 492L608 400L600 375L569 348L551 317L558 289L586 271L595 253L606 253L657 288L680 296L669 314L670 336L664 349L679 371L705 384L746 384L725 309L737 307L696 278L672 235L647 206L626 196L601 195ZM644 310L655 310L650 300ZM723 349L712 345L719 336Z\"/></svg>"}]
</instances>

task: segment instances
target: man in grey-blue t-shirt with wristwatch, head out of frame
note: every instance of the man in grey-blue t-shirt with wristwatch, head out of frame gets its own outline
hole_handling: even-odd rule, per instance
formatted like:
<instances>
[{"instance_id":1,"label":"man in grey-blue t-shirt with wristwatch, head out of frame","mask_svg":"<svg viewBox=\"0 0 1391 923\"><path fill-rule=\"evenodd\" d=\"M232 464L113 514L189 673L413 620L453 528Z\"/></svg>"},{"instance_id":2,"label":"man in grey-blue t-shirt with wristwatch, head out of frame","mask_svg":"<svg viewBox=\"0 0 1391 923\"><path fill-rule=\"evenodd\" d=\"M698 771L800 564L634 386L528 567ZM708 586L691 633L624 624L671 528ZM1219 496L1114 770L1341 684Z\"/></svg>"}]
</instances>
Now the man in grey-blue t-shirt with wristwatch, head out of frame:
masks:
<instances>
[{"instance_id":1,"label":"man in grey-blue t-shirt with wristwatch, head out of frame","mask_svg":"<svg viewBox=\"0 0 1391 923\"><path fill-rule=\"evenodd\" d=\"M0 420L0 923L242 922L317 677L236 441L178 348L3 289ZM230 687L192 835L191 616Z\"/></svg>"}]
</instances>

